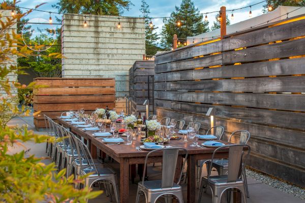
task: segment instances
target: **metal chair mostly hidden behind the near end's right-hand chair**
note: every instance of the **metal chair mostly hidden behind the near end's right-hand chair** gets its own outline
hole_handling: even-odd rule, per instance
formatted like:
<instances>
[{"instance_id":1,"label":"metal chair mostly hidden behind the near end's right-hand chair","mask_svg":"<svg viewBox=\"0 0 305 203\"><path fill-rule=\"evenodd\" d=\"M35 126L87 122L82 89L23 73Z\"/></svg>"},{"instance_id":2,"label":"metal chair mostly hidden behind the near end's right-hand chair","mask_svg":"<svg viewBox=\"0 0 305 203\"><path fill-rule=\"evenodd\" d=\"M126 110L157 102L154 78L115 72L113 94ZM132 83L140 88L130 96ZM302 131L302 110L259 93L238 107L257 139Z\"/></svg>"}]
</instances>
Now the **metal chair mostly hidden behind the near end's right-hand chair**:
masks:
<instances>
[{"instance_id":1,"label":"metal chair mostly hidden behind the near end's right-hand chair","mask_svg":"<svg viewBox=\"0 0 305 203\"><path fill-rule=\"evenodd\" d=\"M239 136L239 140L237 140L238 139L237 134L239 134L239 132L240 132L240 136ZM237 130L237 131L232 132L228 142L231 142L231 139L234 138L235 143L247 145L250 137L251 137L251 134L250 134L249 131L247 131L247 130ZM227 172L228 172L228 164L229 164L228 159L215 159L212 162L212 167L216 168L219 175L223 175L223 174L227 174ZM246 192L247 192L247 197L249 198L250 195L249 195L246 171L242 172L242 178L245 181L245 189L246 189Z\"/></svg>"}]
</instances>

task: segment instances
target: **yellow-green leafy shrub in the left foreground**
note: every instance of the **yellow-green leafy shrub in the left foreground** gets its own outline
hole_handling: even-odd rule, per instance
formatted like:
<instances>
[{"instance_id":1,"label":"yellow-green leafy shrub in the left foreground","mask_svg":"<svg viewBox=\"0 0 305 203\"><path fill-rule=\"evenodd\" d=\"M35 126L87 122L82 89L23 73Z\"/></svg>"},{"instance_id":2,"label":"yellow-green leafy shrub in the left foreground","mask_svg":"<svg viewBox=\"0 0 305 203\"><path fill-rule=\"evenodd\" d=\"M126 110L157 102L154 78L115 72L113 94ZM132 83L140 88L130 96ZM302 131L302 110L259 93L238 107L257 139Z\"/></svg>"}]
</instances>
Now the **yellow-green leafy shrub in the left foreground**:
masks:
<instances>
[{"instance_id":1,"label":"yellow-green leafy shrub in the left foreground","mask_svg":"<svg viewBox=\"0 0 305 203\"><path fill-rule=\"evenodd\" d=\"M1 8L9 11L14 9L6 2L1 4ZM38 87L35 83L26 86L8 79L10 74L23 73L14 63L16 56L33 56L33 52L21 43L21 36L10 29L29 12L31 11L0 20L0 89L6 92L0 98L0 202L86 202L86 199L95 198L102 191L93 192L88 187L77 190L73 184L82 182L82 179L74 180L73 176L67 179L64 176L65 170L55 172L54 163L45 165L42 158L25 155L23 143L43 143L48 139L52 141L50 137L35 134L27 126L7 125L12 118L29 114L24 106L18 109L18 96L12 93L12 89ZM48 56L60 58L60 54L52 53ZM19 151L13 152L13 148Z\"/></svg>"}]
</instances>

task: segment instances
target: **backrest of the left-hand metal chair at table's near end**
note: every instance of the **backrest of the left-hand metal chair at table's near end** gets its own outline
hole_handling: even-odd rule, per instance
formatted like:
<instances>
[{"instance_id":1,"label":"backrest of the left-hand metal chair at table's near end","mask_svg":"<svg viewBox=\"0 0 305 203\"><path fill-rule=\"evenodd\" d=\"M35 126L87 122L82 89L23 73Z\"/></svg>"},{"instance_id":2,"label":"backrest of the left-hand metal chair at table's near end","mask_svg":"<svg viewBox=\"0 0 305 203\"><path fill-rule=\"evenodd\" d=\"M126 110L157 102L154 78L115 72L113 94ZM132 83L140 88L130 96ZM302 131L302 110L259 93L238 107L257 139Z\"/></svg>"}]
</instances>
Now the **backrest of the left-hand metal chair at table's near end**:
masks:
<instances>
[{"instance_id":1,"label":"backrest of the left-hand metal chair at table's near end","mask_svg":"<svg viewBox=\"0 0 305 203\"><path fill-rule=\"evenodd\" d=\"M188 150L182 147L171 147L171 148L162 148L162 149L156 149L153 151L150 151L145 158L144 163L144 171L143 171L143 177L145 177L146 172L146 165L147 165L147 159L148 157L158 151L163 151L163 161L162 161L162 188L171 188L174 183L174 176L175 176L175 170L176 170L176 164L177 164L177 158L179 154L179 150L183 150L185 154L185 160L181 168L181 173L179 176L179 181L177 184L179 184L183 168L185 166L186 160L188 158ZM142 180L142 184L144 185L144 178Z\"/></svg>"}]
</instances>

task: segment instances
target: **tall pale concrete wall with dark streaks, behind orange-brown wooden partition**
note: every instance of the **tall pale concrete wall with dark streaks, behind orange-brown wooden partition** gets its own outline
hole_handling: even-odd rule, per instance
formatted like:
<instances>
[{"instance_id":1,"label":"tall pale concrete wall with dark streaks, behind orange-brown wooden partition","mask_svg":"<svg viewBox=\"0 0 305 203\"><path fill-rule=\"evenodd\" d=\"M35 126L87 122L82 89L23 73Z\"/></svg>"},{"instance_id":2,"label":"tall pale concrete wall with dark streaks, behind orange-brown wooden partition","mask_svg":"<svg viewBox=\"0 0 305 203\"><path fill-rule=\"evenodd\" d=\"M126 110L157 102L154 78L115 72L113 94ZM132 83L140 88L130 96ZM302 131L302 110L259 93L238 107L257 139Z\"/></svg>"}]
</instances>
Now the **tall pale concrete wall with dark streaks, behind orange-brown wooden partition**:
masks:
<instances>
[{"instance_id":1,"label":"tall pale concrete wall with dark streaks, behind orange-brown wooden partition","mask_svg":"<svg viewBox=\"0 0 305 203\"><path fill-rule=\"evenodd\" d=\"M114 78L117 111L126 108L128 71L145 54L144 19L118 17L65 14L62 21L63 77Z\"/></svg>"}]
</instances>

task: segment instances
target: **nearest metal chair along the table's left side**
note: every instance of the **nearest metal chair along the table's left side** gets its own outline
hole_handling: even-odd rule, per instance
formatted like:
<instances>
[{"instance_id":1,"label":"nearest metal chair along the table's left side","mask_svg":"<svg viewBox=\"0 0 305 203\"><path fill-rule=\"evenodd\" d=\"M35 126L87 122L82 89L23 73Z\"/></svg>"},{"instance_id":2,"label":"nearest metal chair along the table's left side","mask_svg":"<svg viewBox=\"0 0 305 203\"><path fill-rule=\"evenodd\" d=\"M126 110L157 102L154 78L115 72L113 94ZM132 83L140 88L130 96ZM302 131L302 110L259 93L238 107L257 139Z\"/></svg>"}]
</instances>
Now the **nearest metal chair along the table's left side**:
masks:
<instances>
[{"instance_id":1,"label":"nearest metal chair along the table's left side","mask_svg":"<svg viewBox=\"0 0 305 203\"><path fill-rule=\"evenodd\" d=\"M74 137L74 139L77 143L80 176L86 176L90 173L90 175L84 178L83 187L88 186L90 188L96 182L104 183L107 185L106 192L109 194L111 200L112 187L110 187L110 185L112 185L116 202L119 202L118 185L115 172L110 168L97 167L87 146L78 138ZM85 163L85 165L83 163Z\"/></svg>"}]
</instances>

